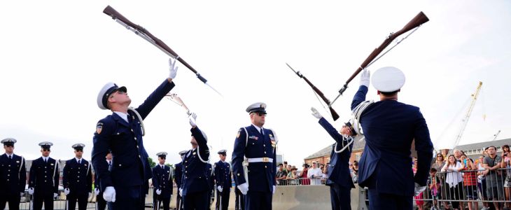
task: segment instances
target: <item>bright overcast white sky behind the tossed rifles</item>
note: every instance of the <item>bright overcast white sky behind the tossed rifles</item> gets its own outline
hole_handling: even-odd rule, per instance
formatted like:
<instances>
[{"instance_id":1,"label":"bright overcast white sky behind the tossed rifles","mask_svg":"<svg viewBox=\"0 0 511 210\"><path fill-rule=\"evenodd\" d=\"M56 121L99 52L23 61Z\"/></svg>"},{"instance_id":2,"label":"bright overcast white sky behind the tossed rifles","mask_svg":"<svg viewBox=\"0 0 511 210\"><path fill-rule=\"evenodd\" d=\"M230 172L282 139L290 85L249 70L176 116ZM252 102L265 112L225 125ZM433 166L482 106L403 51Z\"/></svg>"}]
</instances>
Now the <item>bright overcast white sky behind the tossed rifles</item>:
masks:
<instances>
[{"instance_id":1,"label":"bright overcast white sky behind the tossed rifles","mask_svg":"<svg viewBox=\"0 0 511 210\"><path fill-rule=\"evenodd\" d=\"M221 92L178 64L171 93L197 113L213 162L221 149L232 158L237 130L250 125L245 109L255 102L267 104L264 127L276 132L290 165L333 144L310 108L340 127L351 117L360 76L333 104L341 116L334 122L286 62L332 100L370 52L420 11L430 21L368 69L405 73L399 101L421 108L437 149L454 146L479 81L460 145L491 141L499 130L496 139L511 138L510 1L2 1L0 139L18 139L15 153L35 159L38 143L52 141L50 156L67 160L71 146L83 143L90 160L95 125L111 114L97 107L103 85L125 85L136 107L167 78L168 56L102 13L108 5ZM372 85L367 99L379 99ZM153 159L166 151L174 164L191 148L186 111L168 99L144 125Z\"/></svg>"}]
</instances>

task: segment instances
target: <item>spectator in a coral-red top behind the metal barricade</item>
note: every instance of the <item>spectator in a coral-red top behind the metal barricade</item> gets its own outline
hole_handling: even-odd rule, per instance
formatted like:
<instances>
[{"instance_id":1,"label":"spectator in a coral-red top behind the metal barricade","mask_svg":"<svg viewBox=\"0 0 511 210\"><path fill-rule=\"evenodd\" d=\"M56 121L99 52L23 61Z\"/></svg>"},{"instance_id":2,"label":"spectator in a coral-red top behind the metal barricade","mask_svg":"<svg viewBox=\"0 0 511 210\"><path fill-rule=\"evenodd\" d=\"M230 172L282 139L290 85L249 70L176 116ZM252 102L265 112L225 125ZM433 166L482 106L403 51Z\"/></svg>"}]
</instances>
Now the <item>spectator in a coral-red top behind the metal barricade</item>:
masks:
<instances>
[{"instance_id":1,"label":"spectator in a coral-red top behind the metal barricade","mask_svg":"<svg viewBox=\"0 0 511 210\"><path fill-rule=\"evenodd\" d=\"M467 155L461 155L461 164L463 164L463 189L465 190L465 200L477 200L477 167L472 159ZM461 205L463 205L460 202ZM472 210L472 204L475 210L479 210L478 202L468 202L468 210Z\"/></svg>"}]
</instances>

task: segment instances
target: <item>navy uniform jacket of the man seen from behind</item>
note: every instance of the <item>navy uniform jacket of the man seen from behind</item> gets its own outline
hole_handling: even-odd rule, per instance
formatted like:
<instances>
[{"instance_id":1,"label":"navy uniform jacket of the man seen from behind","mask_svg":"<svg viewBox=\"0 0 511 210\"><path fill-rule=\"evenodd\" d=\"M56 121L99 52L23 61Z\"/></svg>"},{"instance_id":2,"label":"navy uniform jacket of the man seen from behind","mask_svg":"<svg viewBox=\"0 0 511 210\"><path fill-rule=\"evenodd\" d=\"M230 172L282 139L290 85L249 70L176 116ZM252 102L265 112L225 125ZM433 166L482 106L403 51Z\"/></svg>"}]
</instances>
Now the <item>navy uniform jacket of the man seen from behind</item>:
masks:
<instances>
[{"instance_id":1,"label":"navy uniform jacket of the man seen from behind","mask_svg":"<svg viewBox=\"0 0 511 210\"><path fill-rule=\"evenodd\" d=\"M365 101L367 87L360 85L351 109ZM414 182L426 186L433 157L428 125L419 107L396 100L374 102L360 116L365 148L358 165L360 186L379 193L414 195ZM415 139L417 172L412 172L411 146Z\"/></svg>"}]
</instances>

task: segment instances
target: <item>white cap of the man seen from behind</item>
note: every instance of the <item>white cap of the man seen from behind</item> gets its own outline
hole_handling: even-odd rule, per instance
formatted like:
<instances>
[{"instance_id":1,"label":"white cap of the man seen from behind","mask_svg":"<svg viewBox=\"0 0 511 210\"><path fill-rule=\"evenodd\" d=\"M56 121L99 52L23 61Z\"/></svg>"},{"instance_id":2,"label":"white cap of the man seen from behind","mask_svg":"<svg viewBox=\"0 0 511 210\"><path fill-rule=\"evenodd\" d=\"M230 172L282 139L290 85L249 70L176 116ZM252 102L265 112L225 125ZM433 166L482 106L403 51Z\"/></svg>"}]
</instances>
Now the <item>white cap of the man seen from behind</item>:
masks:
<instances>
[{"instance_id":1,"label":"white cap of the man seen from behind","mask_svg":"<svg viewBox=\"0 0 511 210\"><path fill-rule=\"evenodd\" d=\"M405 73L393 66L380 68L372 74L372 86L379 92L394 92L405 85Z\"/></svg>"}]
</instances>

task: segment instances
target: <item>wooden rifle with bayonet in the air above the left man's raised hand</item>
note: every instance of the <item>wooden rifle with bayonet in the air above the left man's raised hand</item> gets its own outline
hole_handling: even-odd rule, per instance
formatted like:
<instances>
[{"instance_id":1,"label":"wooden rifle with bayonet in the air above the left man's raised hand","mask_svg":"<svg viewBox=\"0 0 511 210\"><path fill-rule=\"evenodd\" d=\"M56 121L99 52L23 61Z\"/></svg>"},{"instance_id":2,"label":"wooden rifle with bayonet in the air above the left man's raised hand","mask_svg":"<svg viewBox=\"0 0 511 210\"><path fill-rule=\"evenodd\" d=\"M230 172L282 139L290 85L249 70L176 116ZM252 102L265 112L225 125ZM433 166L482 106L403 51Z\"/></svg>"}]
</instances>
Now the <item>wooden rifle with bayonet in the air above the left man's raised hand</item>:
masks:
<instances>
[{"instance_id":1,"label":"wooden rifle with bayonet in the air above the left man's raised hand","mask_svg":"<svg viewBox=\"0 0 511 210\"><path fill-rule=\"evenodd\" d=\"M188 64L183 58L179 57L179 55L177 55L177 53L174 52L174 50L169 48L169 46L167 46L159 38L156 38L155 36L153 36L153 34L149 33L149 31L144 29L144 27L134 24L133 22L131 22L130 20L125 18L123 15L118 13L118 11L113 9L111 6L106 6L106 8L103 10L103 13L111 16L111 18L113 20L116 20L116 22L118 22L120 25L123 25L124 27L126 27L126 29L133 31L135 34L144 38L149 43L152 43L153 45L155 45L156 48L165 52L165 54L169 55L170 57L172 57L174 59L179 60L179 62L181 62L181 64L185 65L188 69L190 69L190 71L193 71L193 73L195 73L195 76L197 76L197 78L199 78L199 80L201 80L202 83L211 87L211 85L209 85L207 83L208 80L206 80L206 78L202 77L199 72L197 72L195 69L193 69L192 66L190 66L190 64ZM211 89L213 89L216 93L220 94L220 92L216 91L215 88L211 87ZM222 95L222 94L220 94L220 95Z\"/></svg>"}]
</instances>

